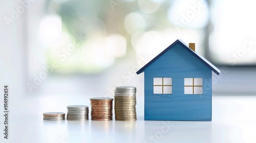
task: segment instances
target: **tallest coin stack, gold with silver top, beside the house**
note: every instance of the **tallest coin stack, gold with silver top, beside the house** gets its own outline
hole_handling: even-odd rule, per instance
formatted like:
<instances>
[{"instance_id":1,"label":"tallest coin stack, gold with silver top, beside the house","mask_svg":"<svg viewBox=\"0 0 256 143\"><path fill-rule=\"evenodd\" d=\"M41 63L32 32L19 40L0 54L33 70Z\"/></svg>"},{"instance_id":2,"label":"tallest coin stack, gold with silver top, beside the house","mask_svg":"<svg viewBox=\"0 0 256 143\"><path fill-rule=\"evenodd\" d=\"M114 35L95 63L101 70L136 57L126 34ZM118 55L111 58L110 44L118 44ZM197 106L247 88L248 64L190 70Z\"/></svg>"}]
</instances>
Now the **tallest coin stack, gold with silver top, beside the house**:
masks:
<instances>
[{"instance_id":1,"label":"tallest coin stack, gold with silver top, beside the house","mask_svg":"<svg viewBox=\"0 0 256 143\"><path fill-rule=\"evenodd\" d=\"M115 119L117 121L135 121L136 87L117 86L115 88Z\"/></svg>"}]
</instances>

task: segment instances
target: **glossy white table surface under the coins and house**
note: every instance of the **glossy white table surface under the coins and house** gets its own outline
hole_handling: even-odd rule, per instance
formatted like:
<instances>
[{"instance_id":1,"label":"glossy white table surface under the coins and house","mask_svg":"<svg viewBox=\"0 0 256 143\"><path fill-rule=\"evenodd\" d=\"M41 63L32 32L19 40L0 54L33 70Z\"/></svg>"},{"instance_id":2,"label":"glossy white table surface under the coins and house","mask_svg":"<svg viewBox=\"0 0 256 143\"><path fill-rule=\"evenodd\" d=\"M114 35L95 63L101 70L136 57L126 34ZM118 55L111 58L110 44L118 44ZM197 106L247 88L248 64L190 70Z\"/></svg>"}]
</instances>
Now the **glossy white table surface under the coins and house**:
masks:
<instances>
[{"instance_id":1,"label":"glossy white table surface under the coins and house","mask_svg":"<svg viewBox=\"0 0 256 143\"><path fill-rule=\"evenodd\" d=\"M90 105L89 98L81 99ZM143 96L137 97L134 122L42 120L51 108L67 112L68 102L58 96L23 98L10 110L9 139L2 134L1 142L256 142L253 96L214 96L211 122L144 121Z\"/></svg>"}]
</instances>

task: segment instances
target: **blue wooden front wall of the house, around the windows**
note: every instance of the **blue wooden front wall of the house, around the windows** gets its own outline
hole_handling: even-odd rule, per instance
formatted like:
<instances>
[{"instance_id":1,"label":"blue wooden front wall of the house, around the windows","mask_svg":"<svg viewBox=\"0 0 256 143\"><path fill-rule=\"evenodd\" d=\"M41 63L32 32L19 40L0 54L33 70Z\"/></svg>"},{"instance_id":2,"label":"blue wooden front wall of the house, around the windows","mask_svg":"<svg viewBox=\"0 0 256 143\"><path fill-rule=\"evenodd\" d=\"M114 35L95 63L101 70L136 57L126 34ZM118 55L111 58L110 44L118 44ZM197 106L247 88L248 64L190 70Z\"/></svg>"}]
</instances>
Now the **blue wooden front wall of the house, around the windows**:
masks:
<instances>
[{"instance_id":1,"label":"blue wooden front wall of the house, around the windows","mask_svg":"<svg viewBox=\"0 0 256 143\"><path fill-rule=\"evenodd\" d=\"M211 69L179 43L144 70L145 120L211 121ZM172 78L173 94L153 94L153 78ZM203 78L203 94L184 94L184 78Z\"/></svg>"}]
</instances>

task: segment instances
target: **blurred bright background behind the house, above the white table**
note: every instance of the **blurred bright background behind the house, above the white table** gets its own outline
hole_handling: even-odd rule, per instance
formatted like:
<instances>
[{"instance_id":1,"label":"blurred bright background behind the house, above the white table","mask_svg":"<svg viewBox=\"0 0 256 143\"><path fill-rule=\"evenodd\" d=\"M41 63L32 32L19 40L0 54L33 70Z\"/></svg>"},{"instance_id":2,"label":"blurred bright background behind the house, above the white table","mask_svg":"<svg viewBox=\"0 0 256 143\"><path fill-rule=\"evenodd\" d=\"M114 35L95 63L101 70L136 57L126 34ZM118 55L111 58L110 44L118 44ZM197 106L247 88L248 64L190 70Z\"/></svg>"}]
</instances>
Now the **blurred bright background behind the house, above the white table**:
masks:
<instances>
[{"instance_id":1,"label":"blurred bright background behind the house, above the white table","mask_svg":"<svg viewBox=\"0 0 256 143\"><path fill-rule=\"evenodd\" d=\"M178 0L2 1L1 82L15 94L113 96L175 40L217 65L214 93L256 81L256 3ZM218 84L217 84L218 83ZM233 94L233 93L232 93Z\"/></svg>"}]
</instances>

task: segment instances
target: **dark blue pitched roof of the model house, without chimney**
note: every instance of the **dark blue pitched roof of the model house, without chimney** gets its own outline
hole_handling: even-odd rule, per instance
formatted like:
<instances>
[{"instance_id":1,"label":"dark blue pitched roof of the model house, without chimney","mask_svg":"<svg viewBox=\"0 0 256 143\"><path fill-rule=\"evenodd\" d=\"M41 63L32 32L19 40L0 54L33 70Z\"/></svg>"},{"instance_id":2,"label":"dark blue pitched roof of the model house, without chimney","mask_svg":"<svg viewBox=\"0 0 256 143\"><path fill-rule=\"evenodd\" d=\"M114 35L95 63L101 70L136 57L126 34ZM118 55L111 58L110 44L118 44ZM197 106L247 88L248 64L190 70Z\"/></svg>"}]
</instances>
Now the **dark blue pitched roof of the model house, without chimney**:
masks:
<instances>
[{"instance_id":1,"label":"dark blue pitched roof of the model house, without chimney","mask_svg":"<svg viewBox=\"0 0 256 143\"><path fill-rule=\"evenodd\" d=\"M169 45L164 51L162 51L160 54L158 54L154 59L152 59L150 62L148 62L146 65L144 65L142 68L140 68L136 74L139 75L140 73L143 73L144 69L150 66L154 61L156 61L159 57L161 57L165 52L167 52L169 49L171 49L173 46L175 46L177 43L179 43L181 46L184 47L189 53L194 55L197 59L199 59L202 63L204 63L207 67L209 67L214 73L219 75L221 73L220 69L218 69L215 65L210 63L208 60L206 60L203 56L199 55L198 53L191 50L187 44L185 44L182 40L178 39L171 45Z\"/></svg>"}]
</instances>

